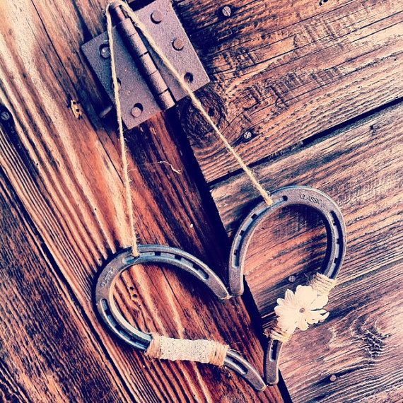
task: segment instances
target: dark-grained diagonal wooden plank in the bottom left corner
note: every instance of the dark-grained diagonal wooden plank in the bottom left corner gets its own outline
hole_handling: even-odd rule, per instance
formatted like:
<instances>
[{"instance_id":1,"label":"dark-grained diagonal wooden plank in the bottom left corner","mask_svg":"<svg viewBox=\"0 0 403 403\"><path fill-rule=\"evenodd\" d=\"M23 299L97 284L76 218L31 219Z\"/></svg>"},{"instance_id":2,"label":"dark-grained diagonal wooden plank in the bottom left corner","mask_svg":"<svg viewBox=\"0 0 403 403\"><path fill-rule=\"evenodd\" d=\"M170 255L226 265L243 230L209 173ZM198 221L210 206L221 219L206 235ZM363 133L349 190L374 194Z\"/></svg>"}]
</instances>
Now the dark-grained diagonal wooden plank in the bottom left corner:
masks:
<instances>
[{"instance_id":1,"label":"dark-grained diagonal wooden plank in the bottom left corner","mask_svg":"<svg viewBox=\"0 0 403 403\"><path fill-rule=\"evenodd\" d=\"M0 172L0 399L128 400Z\"/></svg>"}]
</instances>

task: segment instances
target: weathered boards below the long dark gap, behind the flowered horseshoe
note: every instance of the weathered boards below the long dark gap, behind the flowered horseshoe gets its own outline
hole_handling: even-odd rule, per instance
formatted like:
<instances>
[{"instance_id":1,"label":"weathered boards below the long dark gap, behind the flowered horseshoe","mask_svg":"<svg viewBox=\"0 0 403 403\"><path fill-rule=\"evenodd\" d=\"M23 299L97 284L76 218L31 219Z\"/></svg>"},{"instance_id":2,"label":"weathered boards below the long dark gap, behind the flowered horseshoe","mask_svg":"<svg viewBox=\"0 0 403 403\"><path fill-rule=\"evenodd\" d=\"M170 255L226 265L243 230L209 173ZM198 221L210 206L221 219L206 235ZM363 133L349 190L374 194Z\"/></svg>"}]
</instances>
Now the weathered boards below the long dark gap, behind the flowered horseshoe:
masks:
<instances>
[{"instance_id":1,"label":"weathered boards below the long dark gap, behind the flowered horseshoe","mask_svg":"<svg viewBox=\"0 0 403 403\"><path fill-rule=\"evenodd\" d=\"M403 104L255 167L267 189L308 185L339 204L347 254L331 315L284 347L281 371L295 402L400 402L403 397ZM245 175L212 189L228 233L257 194ZM325 231L317 214L289 207L257 229L245 281L264 329L276 298L320 266ZM288 276L296 275L290 284ZM330 382L331 375L337 376Z\"/></svg>"}]
</instances>

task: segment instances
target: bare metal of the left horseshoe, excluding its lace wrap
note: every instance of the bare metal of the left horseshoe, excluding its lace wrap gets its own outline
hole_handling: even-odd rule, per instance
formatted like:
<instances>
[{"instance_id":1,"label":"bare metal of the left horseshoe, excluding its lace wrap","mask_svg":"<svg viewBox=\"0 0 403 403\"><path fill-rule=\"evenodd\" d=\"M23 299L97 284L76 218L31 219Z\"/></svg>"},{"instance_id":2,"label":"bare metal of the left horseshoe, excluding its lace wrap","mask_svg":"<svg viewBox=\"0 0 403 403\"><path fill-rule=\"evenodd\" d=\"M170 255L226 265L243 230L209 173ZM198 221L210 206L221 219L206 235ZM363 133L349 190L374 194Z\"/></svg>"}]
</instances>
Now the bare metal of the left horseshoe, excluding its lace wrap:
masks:
<instances>
[{"instance_id":1,"label":"bare metal of the left horseshoe, excluding its lace wrap","mask_svg":"<svg viewBox=\"0 0 403 403\"><path fill-rule=\"evenodd\" d=\"M95 305L98 314L110 332L141 351L146 351L148 348L151 343L151 335L130 325L120 313L113 298L115 283L120 274L135 264L168 264L192 274L206 285L218 299L230 298L226 286L214 271L187 252L162 245L139 245L139 257L134 257L132 248L122 250L112 257L98 276L95 286ZM224 366L245 378L255 390L264 390L266 387L257 370L236 351L228 350Z\"/></svg>"}]
</instances>

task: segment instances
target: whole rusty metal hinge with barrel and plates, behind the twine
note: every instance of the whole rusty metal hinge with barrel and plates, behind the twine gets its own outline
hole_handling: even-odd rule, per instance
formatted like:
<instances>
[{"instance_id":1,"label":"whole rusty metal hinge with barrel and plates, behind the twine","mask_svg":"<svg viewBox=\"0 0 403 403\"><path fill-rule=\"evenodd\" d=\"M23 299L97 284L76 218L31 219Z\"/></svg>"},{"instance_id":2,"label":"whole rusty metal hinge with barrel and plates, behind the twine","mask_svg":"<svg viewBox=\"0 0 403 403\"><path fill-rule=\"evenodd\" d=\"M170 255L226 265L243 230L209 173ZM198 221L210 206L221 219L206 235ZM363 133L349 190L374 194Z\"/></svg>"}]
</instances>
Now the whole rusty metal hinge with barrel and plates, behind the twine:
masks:
<instances>
[{"instance_id":1,"label":"whole rusty metal hinge with barrel and plates, behind the twine","mask_svg":"<svg viewBox=\"0 0 403 403\"><path fill-rule=\"evenodd\" d=\"M209 83L209 76L170 0L155 0L135 12L192 90ZM122 8L112 6L111 13L115 23L115 59L122 119L127 128L131 129L161 110L173 107L178 100L185 97L185 93L158 56L148 47L130 18L124 15ZM107 33L93 38L81 48L110 100L113 100Z\"/></svg>"}]
</instances>

